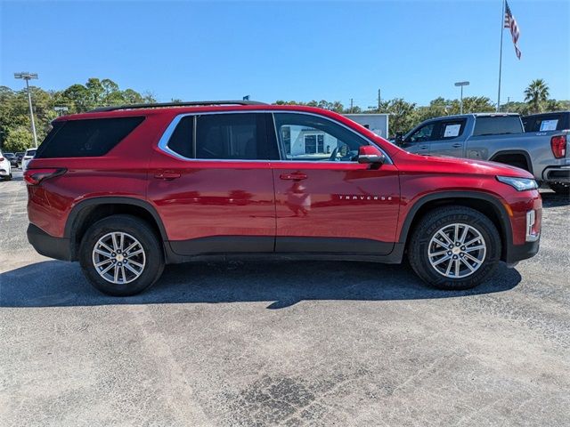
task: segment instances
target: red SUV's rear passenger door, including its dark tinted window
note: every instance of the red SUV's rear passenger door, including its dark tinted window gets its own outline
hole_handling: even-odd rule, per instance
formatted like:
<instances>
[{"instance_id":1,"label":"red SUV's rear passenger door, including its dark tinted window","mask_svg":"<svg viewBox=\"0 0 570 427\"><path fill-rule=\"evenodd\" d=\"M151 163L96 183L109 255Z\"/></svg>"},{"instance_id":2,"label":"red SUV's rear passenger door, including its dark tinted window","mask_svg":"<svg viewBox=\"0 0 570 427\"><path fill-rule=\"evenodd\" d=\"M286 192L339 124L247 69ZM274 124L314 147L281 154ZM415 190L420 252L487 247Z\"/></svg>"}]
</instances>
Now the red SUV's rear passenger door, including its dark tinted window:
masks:
<instances>
[{"instance_id":1,"label":"red SUV's rear passenger door, including its dark tinted window","mask_svg":"<svg viewBox=\"0 0 570 427\"><path fill-rule=\"evenodd\" d=\"M151 159L148 198L176 254L273 252L265 119L254 112L181 115L168 127Z\"/></svg>"}]
</instances>

